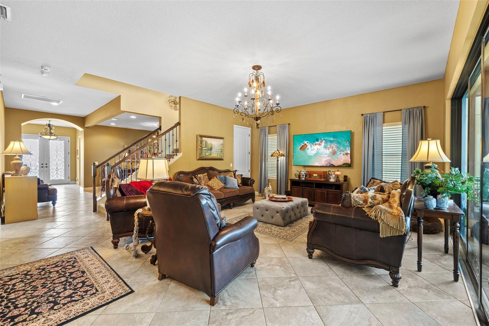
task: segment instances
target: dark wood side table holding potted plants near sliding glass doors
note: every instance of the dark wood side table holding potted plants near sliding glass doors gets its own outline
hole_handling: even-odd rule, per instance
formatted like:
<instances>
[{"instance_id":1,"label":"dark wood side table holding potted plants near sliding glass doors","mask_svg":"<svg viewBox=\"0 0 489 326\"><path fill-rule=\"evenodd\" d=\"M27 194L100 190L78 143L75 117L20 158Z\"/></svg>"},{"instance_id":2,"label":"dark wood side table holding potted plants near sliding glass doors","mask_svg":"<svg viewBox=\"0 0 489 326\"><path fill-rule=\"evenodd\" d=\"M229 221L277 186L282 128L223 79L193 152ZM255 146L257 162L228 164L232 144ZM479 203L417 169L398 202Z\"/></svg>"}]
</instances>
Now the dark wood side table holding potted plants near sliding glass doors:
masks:
<instances>
[{"instance_id":1,"label":"dark wood side table holding potted plants near sliding glass doors","mask_svg":"<svg viewBox=\"0 0 489 326\"><path fill-rule=\"evenodd\" d=\"M464 212L453 201L449 203L446 210L427 209L424 207L423 200L420 197L414 199L414 209L418 213L418 272L421 272L422 253L423 253L423 218L424 216L432 216L445 220L445 254L448 254L448 232L450 229L449 221L453 222L453 280L458 281L458 254L459 254L459 239L460 239L460 216L465 215Z\"/></svg>"}]
</instances>

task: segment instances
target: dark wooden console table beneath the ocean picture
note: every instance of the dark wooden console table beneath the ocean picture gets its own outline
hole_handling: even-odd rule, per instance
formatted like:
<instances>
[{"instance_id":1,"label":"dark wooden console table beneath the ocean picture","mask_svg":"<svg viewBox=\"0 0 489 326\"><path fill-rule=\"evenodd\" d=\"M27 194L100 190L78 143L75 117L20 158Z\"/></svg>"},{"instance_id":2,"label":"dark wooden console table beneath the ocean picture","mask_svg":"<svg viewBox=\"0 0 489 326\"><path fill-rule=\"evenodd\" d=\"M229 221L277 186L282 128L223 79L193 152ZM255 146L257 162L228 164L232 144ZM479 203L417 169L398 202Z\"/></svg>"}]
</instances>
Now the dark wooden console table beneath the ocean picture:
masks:
<instances>
[{"instance_id":1,"label":"dark wooden console table beneath the ocean picture","mask_svg":"<svg viewBox=\"0 0 489 326\"><path fill-rule=\"evenodd\" d=\"M290 195L307 198L309 205L316 203L340 204L341 196L348 190L347 182L315 179L289 179Z\"/></svg>"}]
</instances>

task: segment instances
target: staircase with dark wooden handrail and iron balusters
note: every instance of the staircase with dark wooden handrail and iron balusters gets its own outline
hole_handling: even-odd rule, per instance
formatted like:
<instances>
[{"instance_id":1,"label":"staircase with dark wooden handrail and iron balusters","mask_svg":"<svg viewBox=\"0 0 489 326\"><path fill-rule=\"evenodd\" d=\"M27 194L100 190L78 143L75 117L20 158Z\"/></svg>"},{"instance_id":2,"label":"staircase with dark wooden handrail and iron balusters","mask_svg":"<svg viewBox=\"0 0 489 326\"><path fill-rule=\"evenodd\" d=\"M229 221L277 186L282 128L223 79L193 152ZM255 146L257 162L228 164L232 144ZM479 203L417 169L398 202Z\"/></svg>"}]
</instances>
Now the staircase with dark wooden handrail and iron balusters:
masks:
<instances>
[{"instance_id":1,"label":"staircase with dark wooden handrail and iron balusters","mask_svg":"<svg viewBox=\"0 0 489 326\"><path fill-rule=\"evenodd\" d=\"M105 196L105 179L114 172L123 183L136 181L136 173L141 158L166 158L168 164L181 156L178 148L180 122L160 132L161 127L134 141L131 145L115 153L107 160L92 164L93 211L97 211L97 201Z\"/></svg>"}]
</instances>

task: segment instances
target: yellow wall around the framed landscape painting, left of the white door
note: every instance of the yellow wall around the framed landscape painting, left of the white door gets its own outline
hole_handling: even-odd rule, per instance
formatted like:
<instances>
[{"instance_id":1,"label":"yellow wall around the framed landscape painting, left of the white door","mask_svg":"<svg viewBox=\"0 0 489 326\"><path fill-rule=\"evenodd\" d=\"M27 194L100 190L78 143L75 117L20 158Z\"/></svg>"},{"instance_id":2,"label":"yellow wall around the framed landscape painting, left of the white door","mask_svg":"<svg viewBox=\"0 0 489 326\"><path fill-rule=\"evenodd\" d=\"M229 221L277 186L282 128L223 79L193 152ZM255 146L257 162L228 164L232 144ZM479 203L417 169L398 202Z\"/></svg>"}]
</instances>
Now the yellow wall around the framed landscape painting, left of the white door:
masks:
<instances>
[{"instance_id":1,"label":"yellow wall around the framed landscape painting, left of the white door","mask_svg":"<svg viewBox=\"0 0 489 326\"><path fill-rule=\"evenodd\" d=\"M170 175L178 171L191 171L200 166L231 169L234 160L233 125L246 126L233 111L221 106L200 102L191 98L180 98L179 147L182 156L170 165ZM197 160L197 135L224 137L224 160Z\"/></svg>"}]
</instances>

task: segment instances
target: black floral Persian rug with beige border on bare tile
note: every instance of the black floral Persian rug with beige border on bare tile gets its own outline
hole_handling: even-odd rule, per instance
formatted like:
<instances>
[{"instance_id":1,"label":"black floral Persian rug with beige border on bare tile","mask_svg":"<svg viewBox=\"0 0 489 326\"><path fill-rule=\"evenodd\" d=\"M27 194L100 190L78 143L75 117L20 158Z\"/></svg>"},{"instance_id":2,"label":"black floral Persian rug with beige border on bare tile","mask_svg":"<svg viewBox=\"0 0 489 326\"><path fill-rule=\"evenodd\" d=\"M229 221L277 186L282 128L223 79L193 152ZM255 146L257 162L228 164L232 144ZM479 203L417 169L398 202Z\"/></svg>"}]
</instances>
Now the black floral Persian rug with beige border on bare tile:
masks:
<instances>
[{"instance_id":1,"label":"black floral Persian rug with beige border on bare tile","mask_svg":"<svg viewBox=\"0 0 489 326\"><path fill-rule=\"evenodd\" d=\"M133 289L92 247L0 270L0 325L62 325Z\"/></svg>"}]
</instances>

